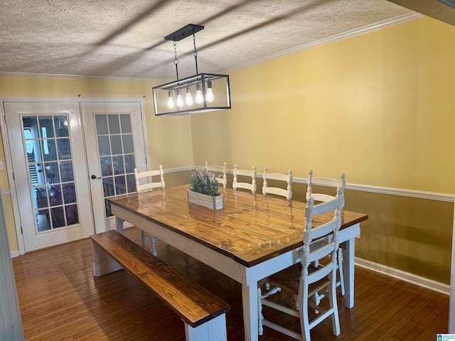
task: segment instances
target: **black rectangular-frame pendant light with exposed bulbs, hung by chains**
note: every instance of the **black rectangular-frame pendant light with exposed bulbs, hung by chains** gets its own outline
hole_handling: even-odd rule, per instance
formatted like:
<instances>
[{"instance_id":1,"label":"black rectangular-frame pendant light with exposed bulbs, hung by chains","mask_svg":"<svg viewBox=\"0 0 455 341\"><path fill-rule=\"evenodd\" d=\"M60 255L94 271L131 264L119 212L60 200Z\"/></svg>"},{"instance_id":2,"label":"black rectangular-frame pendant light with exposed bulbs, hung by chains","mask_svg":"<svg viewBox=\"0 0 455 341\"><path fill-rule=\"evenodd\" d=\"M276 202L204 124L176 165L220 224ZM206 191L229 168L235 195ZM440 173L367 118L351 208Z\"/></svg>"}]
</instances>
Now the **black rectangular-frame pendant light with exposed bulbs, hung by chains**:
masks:
<instances>
[{"instance_id":1,"label":"black rectangular-frame pendant light with exposed bulbs, hung by chains","mask_svg":"<svg viewBox=\"0 0 455 341\"><path fill-rule=\"evenodd\" d=\"M173 63L176 65L177 80L153 87L156 116L193 114L196 112L230 109L229 75L198 72L196 33L203 29L204 26L188 24L164 37L165 40L173 41ZM196 75L179 79L177 41L191 35L193 36ZM184 98L183 91L185 91ZM193 94L195 96L194 99Z\"/></svg>"}]
</instances>

